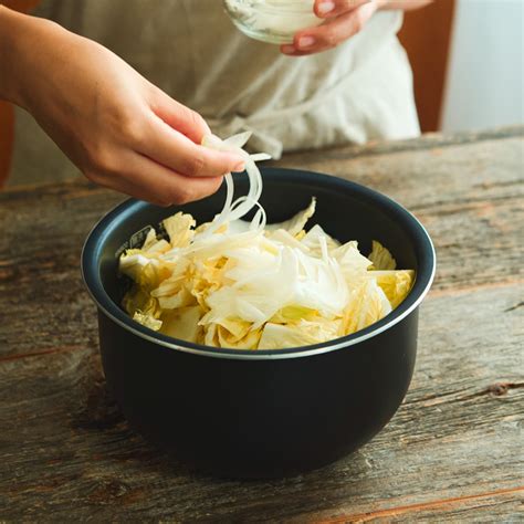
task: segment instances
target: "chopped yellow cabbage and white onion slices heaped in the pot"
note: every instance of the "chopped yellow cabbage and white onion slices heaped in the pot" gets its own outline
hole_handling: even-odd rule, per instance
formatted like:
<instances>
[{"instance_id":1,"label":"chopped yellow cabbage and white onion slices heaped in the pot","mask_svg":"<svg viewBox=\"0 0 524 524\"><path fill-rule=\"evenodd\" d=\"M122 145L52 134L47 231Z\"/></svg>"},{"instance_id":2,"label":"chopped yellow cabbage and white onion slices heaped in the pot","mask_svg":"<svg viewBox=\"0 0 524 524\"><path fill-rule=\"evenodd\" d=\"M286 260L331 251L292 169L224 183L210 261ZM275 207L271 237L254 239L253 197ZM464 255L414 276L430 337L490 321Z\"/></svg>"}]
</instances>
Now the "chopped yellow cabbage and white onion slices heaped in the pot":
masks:
<instances>
[{"instance_id":1,"label":"chopped yellow cabbage and white onion slices heaped in the pot","mask_svg":"<svg viewBox=\"0 0 524 524\"><path fill-rule=\"evenodd\" d=\"M190 214L163 222L168 240L150 229L140 249L127 250L119 270L134 284L123 300L138 323L165 335L208 346L280 349L349 335L386 316L409 293L415 272L396 270L389 251L373 243L368 258L357 242L340 244L319 226L307 232L310 207L281 224L265 226L258 203L262 179L241 147L249 134L203 145L241 153L248 196L233 201L226 176L226 206L197 227ZM240 220L253 207L251 222Z\"/></svg>"}]
</instances>

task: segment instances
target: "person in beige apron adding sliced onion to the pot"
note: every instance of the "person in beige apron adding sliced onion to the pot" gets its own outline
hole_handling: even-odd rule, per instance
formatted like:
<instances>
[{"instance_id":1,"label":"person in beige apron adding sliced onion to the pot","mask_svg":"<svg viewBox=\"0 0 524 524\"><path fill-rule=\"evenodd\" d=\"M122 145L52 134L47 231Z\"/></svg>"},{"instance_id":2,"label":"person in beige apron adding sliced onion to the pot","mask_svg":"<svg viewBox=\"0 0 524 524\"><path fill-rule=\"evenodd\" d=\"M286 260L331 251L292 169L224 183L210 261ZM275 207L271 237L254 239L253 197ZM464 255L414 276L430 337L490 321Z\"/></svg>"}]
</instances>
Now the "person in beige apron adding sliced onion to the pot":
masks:
<instances>
[{"instance_id":1,"label":"person in beige apron adding sliced onion to the pot","mask_svg":"<svg viewBox=\"0 0 524 524\"><path fill-rule=\"evenodd\" d=\"M241 34L218 0L43 0L38 17L0 6L0 98L27 112L12 169L74 172L54 142L94 182L168 206L243 169L200 146L210 129L252 130L275 158L416 136L396 33L402 10L430 1L315 0L326 22L280 48Z\"/></svg>"}]
</instances>

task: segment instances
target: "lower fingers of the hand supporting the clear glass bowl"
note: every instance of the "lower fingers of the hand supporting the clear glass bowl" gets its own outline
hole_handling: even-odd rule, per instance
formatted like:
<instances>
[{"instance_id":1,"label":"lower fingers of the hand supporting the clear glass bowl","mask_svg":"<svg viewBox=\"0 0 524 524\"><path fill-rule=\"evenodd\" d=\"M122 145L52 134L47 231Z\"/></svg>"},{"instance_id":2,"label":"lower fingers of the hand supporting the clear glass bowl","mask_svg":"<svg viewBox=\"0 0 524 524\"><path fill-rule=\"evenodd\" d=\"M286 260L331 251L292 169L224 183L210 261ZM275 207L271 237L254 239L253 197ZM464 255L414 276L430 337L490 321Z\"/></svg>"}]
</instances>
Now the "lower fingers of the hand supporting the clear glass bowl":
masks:
<instances>
[{"instance_id":1,"label":"lower fingers of the hand supporting the clear glass bowl","mask_svg":"<svg viewBox=\"0 0 524 524\"><path fill-rule=\"evenodd\" d=\"M366 2L344 14L326 20L322 25L298 31L293 44L282 45L281 51L289 56L305 56L336 48L361 31L376 9L375 2Z\"/></svg>"}]
</instances>

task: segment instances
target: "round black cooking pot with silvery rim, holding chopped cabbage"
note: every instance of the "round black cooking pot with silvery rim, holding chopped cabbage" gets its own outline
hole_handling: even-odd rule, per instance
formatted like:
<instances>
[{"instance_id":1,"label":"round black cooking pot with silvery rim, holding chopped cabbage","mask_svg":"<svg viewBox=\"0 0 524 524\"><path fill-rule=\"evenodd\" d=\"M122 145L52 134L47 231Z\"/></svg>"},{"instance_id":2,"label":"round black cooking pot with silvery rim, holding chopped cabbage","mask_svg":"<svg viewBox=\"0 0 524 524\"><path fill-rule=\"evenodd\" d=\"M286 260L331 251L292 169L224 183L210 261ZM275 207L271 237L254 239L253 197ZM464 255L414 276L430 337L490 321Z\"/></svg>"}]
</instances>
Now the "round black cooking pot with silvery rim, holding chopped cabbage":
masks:
<instances>
[{"instance_id":1,"label":"round black cooking pot with silvery rim, holding chopped cabbage","mask_svg":"<svg viewBox=\"0 0 524 524\"><path fill-rule=\"evenodd\" d=\"M235 177L248 191L245 176ZM136 232L178 210L198 223L222 208L223 188L169 209L127 200L87 238L82 271L98 307L107 384L130 425L178 459L220 476L270 478L327 464L369 441L408 389L417 352L418 306L436 258L406 209L335 177L263 169L261 203L270 222L289 219L317 197L312 220L342 242L385 244L417 277L408 297L380 322L325 344L281 350L217 349L155 333L119 306L117 259ZM143 233L132 238L140 242ZM271 290L268 290L271 293Z\"/></svg>"}]
</instances>

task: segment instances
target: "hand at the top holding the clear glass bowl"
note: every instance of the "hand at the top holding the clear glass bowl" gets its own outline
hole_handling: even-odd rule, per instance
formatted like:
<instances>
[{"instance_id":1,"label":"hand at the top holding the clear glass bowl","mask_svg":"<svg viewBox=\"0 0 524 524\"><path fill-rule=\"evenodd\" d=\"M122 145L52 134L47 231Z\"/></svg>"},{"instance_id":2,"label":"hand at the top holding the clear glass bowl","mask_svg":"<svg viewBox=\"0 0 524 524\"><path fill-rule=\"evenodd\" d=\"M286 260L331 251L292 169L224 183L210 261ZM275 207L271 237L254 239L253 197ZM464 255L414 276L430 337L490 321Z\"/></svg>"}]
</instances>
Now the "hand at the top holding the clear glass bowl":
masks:
<instances>
[{"instance_id":1,"label":"hand at the top holding the clear glass bowl","mask_svg":"<svg viewBox=\"0 0 524 524\"><path fill-rule=\"evenodd\" d=\"M281 51L290 56L304 56L336 48L361 31L379 10L411 11L433 0L315 0L315 14L326 19L317 28L298 31L293 44Z\"/></svg>"}]
</instances>

